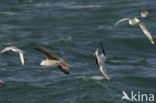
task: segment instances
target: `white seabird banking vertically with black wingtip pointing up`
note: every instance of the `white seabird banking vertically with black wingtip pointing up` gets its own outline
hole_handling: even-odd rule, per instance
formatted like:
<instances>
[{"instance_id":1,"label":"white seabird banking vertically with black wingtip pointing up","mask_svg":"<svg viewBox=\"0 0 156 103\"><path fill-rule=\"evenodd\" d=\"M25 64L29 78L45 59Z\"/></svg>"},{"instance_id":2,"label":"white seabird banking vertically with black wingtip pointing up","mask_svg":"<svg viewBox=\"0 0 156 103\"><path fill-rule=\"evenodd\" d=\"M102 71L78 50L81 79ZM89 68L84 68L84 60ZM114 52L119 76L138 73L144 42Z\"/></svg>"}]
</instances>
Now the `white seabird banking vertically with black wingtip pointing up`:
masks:
<instances>
[{"instance_id":1,"label":"white seabird banking vertically with black wingtip pointing up","mask_svg":"<svg viewBox=\"0 0 156 103\"><path fill-rule=\"evenodd\" d=\"M105 61L106 61L106 53L104 51L102 42L100 42L102 48L102 54L99 55L98 49L95 51L94 59L96 61L97 68L100 69L101 73L106 77L107 80L110 80L110 77L107 75L107 71L105 69Z\"/></svg>"}]
</instances>

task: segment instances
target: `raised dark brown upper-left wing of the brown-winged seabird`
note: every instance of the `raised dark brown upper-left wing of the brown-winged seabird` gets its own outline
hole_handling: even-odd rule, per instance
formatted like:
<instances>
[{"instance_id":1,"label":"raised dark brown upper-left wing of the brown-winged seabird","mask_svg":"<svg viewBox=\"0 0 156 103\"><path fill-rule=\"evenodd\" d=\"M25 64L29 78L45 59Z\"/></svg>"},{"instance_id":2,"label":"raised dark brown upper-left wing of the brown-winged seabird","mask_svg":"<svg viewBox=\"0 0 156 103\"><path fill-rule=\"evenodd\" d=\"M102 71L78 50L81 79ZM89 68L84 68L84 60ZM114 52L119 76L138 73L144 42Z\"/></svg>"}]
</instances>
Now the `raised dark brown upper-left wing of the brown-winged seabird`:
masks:
<instances>
[{"instance_id":1,"label":"raised dark brown upper-left wing of the brown-winged seabird","mask_svg":"<svg viewBox=\"0 0 156 103\"><path fill-rule=\"evenodd\" d=\"M36 49L36 50L42 52L43 54L45 54L48 59L59 60L59 58L52 52L46 51L46 50L44 50L42 48L34 48L34 49Z\"/></svg>"}]
</instances>

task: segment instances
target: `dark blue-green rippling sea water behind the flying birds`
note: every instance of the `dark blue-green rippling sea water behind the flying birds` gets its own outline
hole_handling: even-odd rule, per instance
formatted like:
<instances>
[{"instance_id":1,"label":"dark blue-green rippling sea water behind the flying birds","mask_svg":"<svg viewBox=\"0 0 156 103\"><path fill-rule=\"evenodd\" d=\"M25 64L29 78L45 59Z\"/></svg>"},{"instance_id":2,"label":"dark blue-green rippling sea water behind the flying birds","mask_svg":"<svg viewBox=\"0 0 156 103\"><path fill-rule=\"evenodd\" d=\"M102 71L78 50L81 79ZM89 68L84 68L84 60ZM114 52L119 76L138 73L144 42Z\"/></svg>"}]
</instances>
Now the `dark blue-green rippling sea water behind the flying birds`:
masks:
<instances>
[{"instance_id":1,"label":"dark blue-green rippling sea water behind the flying birds","mask_svg":"<svg viewBox=\"0 0 156 103\"><path fill-rule=\"evenodd\" d=\"M156 94L155 45L137 25L113 26L146 9L150 14L140 20L156 40L155 0L1 0L0 49L24 50L25 66L16 53L0 54L0 79L7 83L0 85L0 103L121 103L123 90ZM99 41L110 81L92 59ZM46 58L35 47L66 59L70 75L40 66Z\"/></svg>"}]
</instances>

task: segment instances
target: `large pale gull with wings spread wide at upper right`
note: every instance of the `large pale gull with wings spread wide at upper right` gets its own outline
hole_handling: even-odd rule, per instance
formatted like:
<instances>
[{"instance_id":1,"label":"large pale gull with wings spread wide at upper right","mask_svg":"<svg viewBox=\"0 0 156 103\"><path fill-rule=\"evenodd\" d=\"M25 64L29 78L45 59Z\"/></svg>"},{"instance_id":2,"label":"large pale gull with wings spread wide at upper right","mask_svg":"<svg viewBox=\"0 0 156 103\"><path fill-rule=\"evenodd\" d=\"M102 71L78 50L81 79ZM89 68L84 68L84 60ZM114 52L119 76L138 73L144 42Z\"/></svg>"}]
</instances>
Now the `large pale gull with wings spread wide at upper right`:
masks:
<instances>
[{"instance_id":1,"label":"large pale gull with wings spread wide at upper right","mask_svg":"<svg viewBox=\"0 0 156 103\"><path fill-rule=\"evenodd\" d=\"M120 19L119 21L117 21L114 25L118 25L121 22L124 22L128 20L130 25L136 25L138 24L140 26L140 28L142 29L143 33L146 35L146 37L150 40L150 42L154 45L155 42L152 39L152 36L150 34L150 32L147 30L146 26L144 25L143 22L141 22L138 18L134 17L134 18L123 18Z\"/></svg>"}]
</instances>

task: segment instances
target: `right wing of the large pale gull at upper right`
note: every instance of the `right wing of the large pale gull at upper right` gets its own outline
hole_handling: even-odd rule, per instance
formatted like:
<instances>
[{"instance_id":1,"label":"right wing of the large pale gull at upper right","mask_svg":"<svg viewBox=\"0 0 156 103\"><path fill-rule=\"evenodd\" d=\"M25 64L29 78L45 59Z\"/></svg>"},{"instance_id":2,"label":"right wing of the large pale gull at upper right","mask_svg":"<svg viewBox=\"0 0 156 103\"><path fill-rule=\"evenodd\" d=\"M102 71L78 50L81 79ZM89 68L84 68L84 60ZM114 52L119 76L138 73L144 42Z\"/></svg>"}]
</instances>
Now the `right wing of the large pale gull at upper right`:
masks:
<instances>
[{"instance_id":1,"label":"right wing of the large pale gull at upper right","mask_svg":"<svg viewBox=\"0 0 156 103\"><path fill-rule=\"evenodd\" d=\"M153 41L152 36L151 36L150 32L147 30L146 26L142 22L139 22L139 26L142 29L143 33L146 35L146 37L150 40L150 42L152 44L155 44L155 42Z\"/></svg>"}]
</instances>

